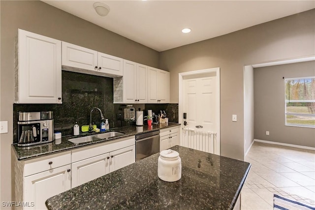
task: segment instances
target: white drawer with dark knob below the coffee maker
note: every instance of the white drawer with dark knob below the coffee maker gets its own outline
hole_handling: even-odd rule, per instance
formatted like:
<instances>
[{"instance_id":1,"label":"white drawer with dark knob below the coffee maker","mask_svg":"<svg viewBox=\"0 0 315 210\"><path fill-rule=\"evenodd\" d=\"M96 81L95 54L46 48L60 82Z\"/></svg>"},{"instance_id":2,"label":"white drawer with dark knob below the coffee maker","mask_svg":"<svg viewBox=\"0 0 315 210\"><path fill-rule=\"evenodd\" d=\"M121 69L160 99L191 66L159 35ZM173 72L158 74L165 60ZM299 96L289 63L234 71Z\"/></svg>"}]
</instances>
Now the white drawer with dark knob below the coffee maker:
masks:
<instances>
[{"instance_id":1,"label":"white drawer with dark knob below the coffee maker","mask_svg":"<svg viewBox=\"0 0 315 210\"><path fill-rule=\"evenodd\" d=\"M71 151L34 158L25 161L23 176L27 177L32 174L37 174L67 164L71 164Z\"/></svg>"}]
</instances>

